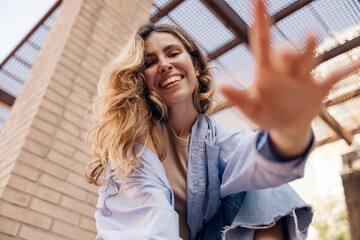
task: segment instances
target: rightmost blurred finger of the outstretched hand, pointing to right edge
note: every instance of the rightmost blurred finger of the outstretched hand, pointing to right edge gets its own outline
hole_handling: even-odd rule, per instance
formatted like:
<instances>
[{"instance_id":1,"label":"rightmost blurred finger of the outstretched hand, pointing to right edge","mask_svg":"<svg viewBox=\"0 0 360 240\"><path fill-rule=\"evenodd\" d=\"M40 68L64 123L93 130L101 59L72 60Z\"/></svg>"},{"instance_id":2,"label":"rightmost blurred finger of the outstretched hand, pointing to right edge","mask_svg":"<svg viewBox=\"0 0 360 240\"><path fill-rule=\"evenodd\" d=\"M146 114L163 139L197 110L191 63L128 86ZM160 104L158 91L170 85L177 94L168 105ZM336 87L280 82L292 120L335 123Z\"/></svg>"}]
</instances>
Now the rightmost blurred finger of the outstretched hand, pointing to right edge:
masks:
<instances>
[{"instance_id":1,"label":"rightmost blurred finger of the outstretched hand, pointing to right edge","mask_svg":"<svg viewBox=\"0 0 360 240\"><path fill-rule=\"evenodd\" d=\"M327 93L330 91L332 86L334 86L334 84L336 84L341 79L347 77L348 75L354 73L355 71L360 71L360 61L357 61L348 67L331 73L324 81L319 83L319 87Z\"/></svg>"}]
</instances>

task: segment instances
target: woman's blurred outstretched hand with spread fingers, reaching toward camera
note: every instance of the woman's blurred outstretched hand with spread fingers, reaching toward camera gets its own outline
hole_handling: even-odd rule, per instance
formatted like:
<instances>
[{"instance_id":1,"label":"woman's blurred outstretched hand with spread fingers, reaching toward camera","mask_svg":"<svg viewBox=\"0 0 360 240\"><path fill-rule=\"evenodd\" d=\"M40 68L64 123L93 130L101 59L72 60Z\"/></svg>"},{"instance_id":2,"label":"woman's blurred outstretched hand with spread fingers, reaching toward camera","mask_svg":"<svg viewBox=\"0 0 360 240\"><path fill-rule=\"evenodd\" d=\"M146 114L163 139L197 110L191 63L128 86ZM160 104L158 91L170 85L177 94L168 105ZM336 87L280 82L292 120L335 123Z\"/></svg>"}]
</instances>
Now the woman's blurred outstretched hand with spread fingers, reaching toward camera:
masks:
<instances>
[{"instance_id":1,"label":"woman's blurred outstretched hand with spread fingers, reaching toward camera","mask_svg":"<svg viewBox=\"0 0 360 240\"><path fill-rule=\"evenodd\" d=\"M263 0L253 0L253 7L254 24L249 31L249 42L256 62L254 83L246 91L229 86L220 90L232 105L238 106L261 128L273 132L272 137L299 137L306 142L322 99L336 82L355 71L359 64L315 81L311 74L317 65L314 34L305 38L304 52L277 52L270 44L272 21Z\"/></svg>"}]
</instances>

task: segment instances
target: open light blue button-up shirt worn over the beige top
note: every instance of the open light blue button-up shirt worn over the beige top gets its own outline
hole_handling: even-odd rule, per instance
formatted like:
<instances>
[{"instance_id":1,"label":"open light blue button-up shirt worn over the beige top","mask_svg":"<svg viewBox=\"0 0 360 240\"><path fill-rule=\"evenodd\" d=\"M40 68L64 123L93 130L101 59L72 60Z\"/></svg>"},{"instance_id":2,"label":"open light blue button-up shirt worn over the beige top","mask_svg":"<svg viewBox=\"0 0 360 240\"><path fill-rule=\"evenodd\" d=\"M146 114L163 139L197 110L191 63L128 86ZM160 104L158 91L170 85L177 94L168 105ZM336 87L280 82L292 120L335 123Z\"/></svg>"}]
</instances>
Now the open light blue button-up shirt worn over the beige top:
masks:
<instances>
[{"instance_id":1,"label":"open light blue button-up shirt worn over the beige top","mask_svg":"<svg viewBox=\"0 0 360 240\"><path fill-rule=\"evenodd\" d=\"M143 146L138 145L141 151ZM305 154L281 162L267 133L217 125L199 114L191 131L187 223L191 239L230 194L279 186L303 176ZM95 213L96 239L180 239L174 193L160 160L145 148L143 168L119 183L105 176Z\"/></svg>"}]
</instances>

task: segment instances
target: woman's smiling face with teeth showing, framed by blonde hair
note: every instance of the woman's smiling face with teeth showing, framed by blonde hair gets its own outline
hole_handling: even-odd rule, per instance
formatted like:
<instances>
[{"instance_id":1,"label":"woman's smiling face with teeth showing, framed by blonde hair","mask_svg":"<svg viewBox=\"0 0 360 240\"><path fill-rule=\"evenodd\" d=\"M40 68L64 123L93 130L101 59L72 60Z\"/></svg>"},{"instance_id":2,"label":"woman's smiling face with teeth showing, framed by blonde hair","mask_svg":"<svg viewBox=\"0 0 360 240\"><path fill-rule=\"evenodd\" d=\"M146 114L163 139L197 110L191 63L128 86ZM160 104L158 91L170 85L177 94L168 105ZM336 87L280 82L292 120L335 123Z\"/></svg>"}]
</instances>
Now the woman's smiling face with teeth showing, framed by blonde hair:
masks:
<instances>
[{"instance_id":1,"label":"woman's smiling face with teeth showing, framed by blonde hair","mask_svg":"<svg viewBox=\"0 0 360 240\"><path fill-rule=\"evenodd\" d=\"M153 32L145 41L145 78L172 109L194 108L193 92L197 84L193 61L179 39L169 33Z\"/></svg>"}]
</instances>

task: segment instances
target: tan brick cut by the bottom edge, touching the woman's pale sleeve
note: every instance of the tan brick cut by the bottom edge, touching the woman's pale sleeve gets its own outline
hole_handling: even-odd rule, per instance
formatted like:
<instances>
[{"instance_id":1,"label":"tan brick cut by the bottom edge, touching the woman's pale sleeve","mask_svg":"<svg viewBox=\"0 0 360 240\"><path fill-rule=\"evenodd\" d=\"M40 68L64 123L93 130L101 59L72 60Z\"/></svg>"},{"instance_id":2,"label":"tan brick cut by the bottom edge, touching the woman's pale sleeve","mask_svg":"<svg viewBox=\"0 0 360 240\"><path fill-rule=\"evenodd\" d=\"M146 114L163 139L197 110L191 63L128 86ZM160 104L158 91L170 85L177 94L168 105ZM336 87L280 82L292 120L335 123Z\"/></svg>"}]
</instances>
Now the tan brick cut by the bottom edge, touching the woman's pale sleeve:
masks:
<instances>
[{"instance_id":1,"label":"tan brick cut by the bottom edge, touching the woman's pale sleeve","mask_svg":"<svg viewBox=\"0 0 360 240\"><path fill-rule=\"evenodd\" d=\"M54 221L52 226L52 231L61 236L68 237L70 239L95 239L96 234L89 233L88 231L82 230L79 227L72 226L70 224L60 222L58 220Z\"/></svg>"}]
</instances>

